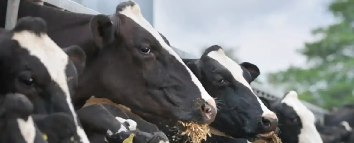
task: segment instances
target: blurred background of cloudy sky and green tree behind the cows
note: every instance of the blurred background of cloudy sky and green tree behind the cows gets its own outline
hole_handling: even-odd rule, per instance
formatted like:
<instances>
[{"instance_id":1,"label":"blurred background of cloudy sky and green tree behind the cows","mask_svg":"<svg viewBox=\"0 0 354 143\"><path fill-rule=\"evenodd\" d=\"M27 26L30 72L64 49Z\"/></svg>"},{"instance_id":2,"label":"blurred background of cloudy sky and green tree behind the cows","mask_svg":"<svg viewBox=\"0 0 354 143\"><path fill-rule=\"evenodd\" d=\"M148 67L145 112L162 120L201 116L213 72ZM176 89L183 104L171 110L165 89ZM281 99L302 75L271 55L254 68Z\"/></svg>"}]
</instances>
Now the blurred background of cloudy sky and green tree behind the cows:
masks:
<instances>
[{"instance_id":1,"label":"blurred background of cloudy sky and green tree behind the cows","mask_svg":"<svg viewBox=\"0 0 354 143\"><path fill-rule=\"evenodd\" d=\"M124 0L75 0L103 14ZM257 82L329 109L354 103L354 0L135 0L188 56L219 44Z\"/></svg>"}]
</instances>

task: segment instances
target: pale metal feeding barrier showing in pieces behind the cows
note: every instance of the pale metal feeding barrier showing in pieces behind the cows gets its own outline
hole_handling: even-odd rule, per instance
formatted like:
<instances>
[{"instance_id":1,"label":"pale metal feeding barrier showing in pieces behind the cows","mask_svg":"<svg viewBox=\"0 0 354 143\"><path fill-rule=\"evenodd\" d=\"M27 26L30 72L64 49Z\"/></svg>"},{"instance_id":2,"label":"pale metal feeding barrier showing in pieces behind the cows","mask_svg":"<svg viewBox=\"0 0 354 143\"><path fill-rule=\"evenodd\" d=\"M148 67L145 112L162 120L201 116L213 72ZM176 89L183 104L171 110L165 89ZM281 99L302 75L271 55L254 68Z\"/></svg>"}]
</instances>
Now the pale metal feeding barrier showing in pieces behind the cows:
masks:
<instances>
[{"instance_id":1,"label":"pale metal feeding barrier showing in pieces behind the cows","mask_svg":"<svg viewBox=\"0 0 354 143\"><path fill-rule=\"evenodd\" d=\"M19 1L20 0L8 0L6 23L5 23L6 29L13 28L13 26L15 26L17 22ZM63 11L86 13L86 14L101 14L73 0L30 0L30 1L39 5L55 7ZM198 58L197 56L189 54L178 48L175 47L172 48L182 58ZM284 93L278 92L277 90L271 88L265 88L263 85L259 83L252 83L251 87L258 96L265 97L270 100L280 99L284 95ZM323 121L323 115L328 111L326 111L323 108L312 105L311 103L308 103L306 101L302 101L302 103L315 114L316 119Z\"/></svg>"}]
</instances>

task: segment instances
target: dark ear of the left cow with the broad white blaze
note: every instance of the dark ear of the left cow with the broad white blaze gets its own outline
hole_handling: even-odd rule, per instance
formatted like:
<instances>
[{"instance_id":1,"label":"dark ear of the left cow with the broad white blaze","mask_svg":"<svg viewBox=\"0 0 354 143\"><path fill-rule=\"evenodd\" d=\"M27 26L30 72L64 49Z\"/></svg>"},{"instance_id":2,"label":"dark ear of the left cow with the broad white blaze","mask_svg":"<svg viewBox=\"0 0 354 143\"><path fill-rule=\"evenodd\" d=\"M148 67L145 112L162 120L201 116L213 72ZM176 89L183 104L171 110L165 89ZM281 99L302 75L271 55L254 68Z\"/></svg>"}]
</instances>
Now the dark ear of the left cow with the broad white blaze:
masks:
<instances>
[{"instance_id":1,"label":"dark ear of the left cow with the broad white blaze","mask_svg":"<svg viewBox=\"0 0 354 143\"><path fill-rule=\"evenodd\" d=\"M78 74L80 75L86 66L86 54L85 51L76 45L70 46L63 48L64 52L68 54L69 58L71 61L73 61L76 71L78 71Z\"/></svg>"}]
</instances>

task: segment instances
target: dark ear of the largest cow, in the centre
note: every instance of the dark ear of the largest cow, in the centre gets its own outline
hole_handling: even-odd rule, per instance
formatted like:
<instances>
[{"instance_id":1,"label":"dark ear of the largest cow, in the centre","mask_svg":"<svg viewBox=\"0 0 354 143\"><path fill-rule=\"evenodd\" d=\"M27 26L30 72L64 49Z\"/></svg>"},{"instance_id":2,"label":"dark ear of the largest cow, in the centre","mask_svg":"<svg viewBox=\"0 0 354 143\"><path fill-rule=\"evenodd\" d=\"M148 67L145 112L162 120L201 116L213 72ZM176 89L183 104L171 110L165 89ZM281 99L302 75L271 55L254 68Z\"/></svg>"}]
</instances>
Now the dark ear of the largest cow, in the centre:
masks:
<instances>
[{"instance_id":1,"label":"dark ear of the largest cow, in the centre","mask_svg":"<svg viewBox=\"0 0 354 143\"><path fill-rule=\"evenodd\" d=\"M90 22L93 39L99 48L103 48L114 40L113 22L103 14L99 14Z\"/></svg>"}]
</instances>

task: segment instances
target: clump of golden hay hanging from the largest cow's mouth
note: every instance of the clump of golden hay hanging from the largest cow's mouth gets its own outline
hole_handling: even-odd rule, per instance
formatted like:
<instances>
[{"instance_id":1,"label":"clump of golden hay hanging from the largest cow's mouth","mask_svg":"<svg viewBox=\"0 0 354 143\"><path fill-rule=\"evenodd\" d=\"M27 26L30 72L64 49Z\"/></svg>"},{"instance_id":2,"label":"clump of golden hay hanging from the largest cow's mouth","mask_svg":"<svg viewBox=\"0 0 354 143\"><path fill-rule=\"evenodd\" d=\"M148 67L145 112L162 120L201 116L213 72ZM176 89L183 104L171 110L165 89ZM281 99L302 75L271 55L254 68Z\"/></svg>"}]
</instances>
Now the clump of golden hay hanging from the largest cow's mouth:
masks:
<instances>
[{"instance_id":1,"label":"clump of golden hay hanging from the largest cow's mouth","mask_svg":"<svg viewBox=\"0 0 354 143\"><path fill-rule=\"evenodd\" d=\"M181 132L181 135L188 137L185 142L201 143L206 141L207 136L211 136L210 128L207 124L184 123L182 121L178 121L178 123L185 127L185 131Z\"/></svg>"}]
</instances>

